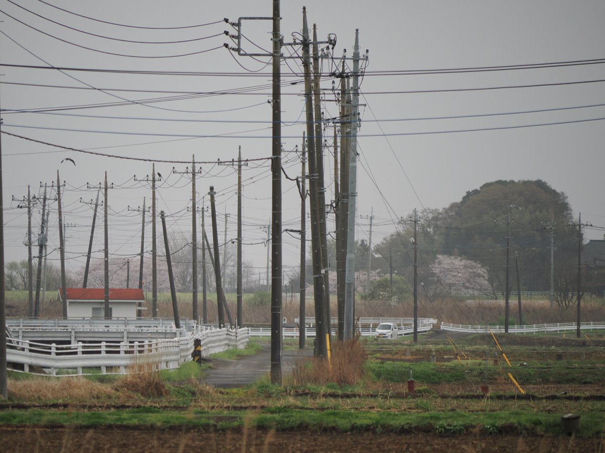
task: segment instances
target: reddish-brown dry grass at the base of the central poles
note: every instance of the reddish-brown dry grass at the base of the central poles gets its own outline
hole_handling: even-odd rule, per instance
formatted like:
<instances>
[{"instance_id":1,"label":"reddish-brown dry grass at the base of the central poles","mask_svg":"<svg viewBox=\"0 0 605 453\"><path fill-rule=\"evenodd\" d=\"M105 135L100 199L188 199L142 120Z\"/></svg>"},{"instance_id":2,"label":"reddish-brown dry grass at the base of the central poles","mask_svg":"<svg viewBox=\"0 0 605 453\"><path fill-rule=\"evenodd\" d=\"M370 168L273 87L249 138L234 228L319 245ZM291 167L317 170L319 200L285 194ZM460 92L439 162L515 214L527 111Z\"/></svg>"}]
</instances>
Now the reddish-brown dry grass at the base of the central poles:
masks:
<instances>
[{"instance_id":1,"label":"reddish-brown dry grass at the base of the central poles","mask_svg":"<svg viewBox=\"0 0 605 453\"><path fill-rule=\"evenodd\" d=\"M366 359L364 345L358 339L334 342L330 361L313 359L298 364L293 370L293 385L327 384L355 385L363 377Z\"/></svg>"}]
</instances>

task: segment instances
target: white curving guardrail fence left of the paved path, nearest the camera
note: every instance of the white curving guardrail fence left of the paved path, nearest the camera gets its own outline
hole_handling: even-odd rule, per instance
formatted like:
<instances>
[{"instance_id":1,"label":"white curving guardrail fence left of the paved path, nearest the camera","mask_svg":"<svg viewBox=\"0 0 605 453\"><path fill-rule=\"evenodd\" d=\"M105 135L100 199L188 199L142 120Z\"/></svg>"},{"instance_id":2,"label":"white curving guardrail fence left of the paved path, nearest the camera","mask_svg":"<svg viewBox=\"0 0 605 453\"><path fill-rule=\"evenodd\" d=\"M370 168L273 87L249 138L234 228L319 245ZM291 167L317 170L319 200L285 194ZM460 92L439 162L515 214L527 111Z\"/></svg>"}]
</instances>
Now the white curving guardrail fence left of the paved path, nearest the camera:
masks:
<instances>
[{"instance_id":1,"label":"white curving guardrail fence left of the paved path, nearest the camera","mask_svg":"<svg viewBox=\"0 0 605 453\"><path fill-rule=\"evenodd\" d=\"M227 349L243 349L249 339L248 329L212 329L192 332L179 338L143 342L99 342L56 345L17 338L7 342L7 362L40 367L52 376L79 376L90 369L102 374L125 374L129 365L157 364L160 370L178 368L191 360L194 339L201 339L201 355ZM59 371L60 370L60 371Z\"/></svg>"}]
</instances>

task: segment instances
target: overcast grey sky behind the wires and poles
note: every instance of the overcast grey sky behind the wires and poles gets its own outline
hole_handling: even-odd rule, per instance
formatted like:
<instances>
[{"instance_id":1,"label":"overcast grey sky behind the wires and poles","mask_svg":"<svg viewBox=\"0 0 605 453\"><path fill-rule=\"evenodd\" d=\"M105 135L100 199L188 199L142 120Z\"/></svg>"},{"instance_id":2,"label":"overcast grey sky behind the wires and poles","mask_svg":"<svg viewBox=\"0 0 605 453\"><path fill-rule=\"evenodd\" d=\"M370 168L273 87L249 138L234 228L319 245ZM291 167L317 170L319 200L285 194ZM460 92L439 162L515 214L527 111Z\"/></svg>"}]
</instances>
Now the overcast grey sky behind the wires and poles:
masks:
<instances>
[{"instance_id":1,"label":"overcast grey sky behind the wires and poles","mask_svg":"<svg viewBox=\"0 0 605 453\"><path fill-rule=\"evenodd\" d=\"M235 30L222 19L270 16L272 1L52 4L71 13L42 1L0 0L3 131L74 149L146 159L190 161L195 154L196 161L225 161L237 158L238 146L243 158L270 156L269 59L240 57L223 48L224 42L232 43L223 31ZM322 63L327 117L338 114L328 75L344 49L352 56L356 28L362 53L369 50L361 85L365 106L359 131L358 210L361 216L374 210L373 242L390 234L393 221L414 208L446 207L466 191L496 179L543 179L567 194L576 216L581 212L583 221L605 225L601 57L605 2L288 0L281 5L281 33L287 42L302 28L303 5L309 24L317 24L320 39L328 33L337 37L333 58ZM200 24L209 25L174 28ZM270 21L244 22L242 31L249 39L243 41L244 50L270 49L270 27ZM283 52L290 55L300 49L284 47ZM190 55L159 58L183 54ZM491 70L520 65L545 67ZM42 69L51 66L118 72ZM469 68L491 69L440 71ZM300 148L305 129L302 69L299 60L289 59L281 70L283 166L293 177L300 171L299 156L289 151ZM162 101L140 102L151 98ZM70 108L60 109L66 107ZM20 112L31 110L45 112ZM331 129L327 138L331 141ZM330 147L326 158L330 174L331 151ZM60 163L66 157L76 165ZM151 175L151 162L64 151L2 135L2 164L7 260L27 257L23 245L27 215L16 208L11 195L21 198L28 184L38 194L41 182L56 181L57 170L67 184L67 222L75 225L68 228L68 268L83 265L90 235L92 209L79 199L96 196L87 183L102 182L104 170L115 187L109 195L110 252L119 260L138 253L140 214L127 206L142 205L143 196L149 204L149 185L135 181L133 175L137 179ZM185 176L171 174L173 166L184 171L187 165L156 164L163 175L159 209L168 214L171 231L189 234L191 185ZM232 239L235 171L216 164L199 167L203 178L197 179L198 193L201 197L215 186L218 212L232 214L227 235ZM268 161L262 160L250 162L244 171L244 243L256 244L245 246L244 254L262 273L266 257L262 226L270 217L269 174ZM298 191L285 179L283 188L284 227L296 229ZM331 184L327 190L333 198ZM223 220L221 215L221 232ZM50 223L49 240L57 247L56 204L51 206ZM38 212L33 225L38 230ZM101 251L102 233L97 231L94 249ZM147 231L149 237L151 229ZM368 220L360 219L356 236L367 239L367 233ZM602 239L603 231L588 229L586 237ZM284 265L297 266L298 237L284 234L284 243ZM58 259L58 253L53 257Z\"/></svg>"}]
</instances>

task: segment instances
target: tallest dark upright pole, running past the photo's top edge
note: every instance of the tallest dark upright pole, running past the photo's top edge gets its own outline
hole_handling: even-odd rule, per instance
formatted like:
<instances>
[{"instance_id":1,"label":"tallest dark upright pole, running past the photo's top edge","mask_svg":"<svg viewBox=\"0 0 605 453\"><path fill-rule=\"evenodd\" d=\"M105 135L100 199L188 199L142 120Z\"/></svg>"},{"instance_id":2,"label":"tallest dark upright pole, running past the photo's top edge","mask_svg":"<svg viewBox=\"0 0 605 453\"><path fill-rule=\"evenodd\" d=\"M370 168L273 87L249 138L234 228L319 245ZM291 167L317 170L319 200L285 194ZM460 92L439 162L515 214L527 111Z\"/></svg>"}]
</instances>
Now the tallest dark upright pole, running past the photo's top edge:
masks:
<instances>
[{"instance_id":1,"label":"tallest dark upright pole, running past the photo's top edge","mask_svg":"<svg viewBox=\"0 0 605 453\"><path fill-rule=\"evenodd\" d=\"M271 240L271 383L281 385L281 32L280 0L273 0L272 77L272 240Z\"/></svg>"}]
</instances>

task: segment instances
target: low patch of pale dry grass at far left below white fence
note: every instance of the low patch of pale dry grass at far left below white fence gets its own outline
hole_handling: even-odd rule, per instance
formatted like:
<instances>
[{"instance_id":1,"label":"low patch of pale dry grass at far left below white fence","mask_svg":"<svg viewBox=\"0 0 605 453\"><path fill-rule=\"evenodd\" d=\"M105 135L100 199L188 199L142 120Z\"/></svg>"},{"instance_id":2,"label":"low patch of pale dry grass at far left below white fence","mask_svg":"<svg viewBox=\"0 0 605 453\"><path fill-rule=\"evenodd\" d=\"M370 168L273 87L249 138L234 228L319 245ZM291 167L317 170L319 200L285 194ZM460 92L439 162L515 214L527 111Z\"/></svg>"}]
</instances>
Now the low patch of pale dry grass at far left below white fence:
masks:
<instances>
[{"instance_id":1,"label":"low patch of pale dry grass at far left below white fence","mask_svg":"<svg viewBox=\"0 0 605 453\"><path fill-rule=\"evenodd\" d=\"M91 400L115 400L118 395L111 387L83 377L61 379L8 380L9 399L20 402L91 402Z\"/></svg>"}]
</instances>

